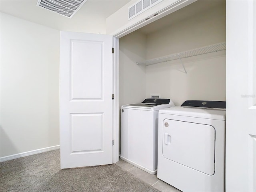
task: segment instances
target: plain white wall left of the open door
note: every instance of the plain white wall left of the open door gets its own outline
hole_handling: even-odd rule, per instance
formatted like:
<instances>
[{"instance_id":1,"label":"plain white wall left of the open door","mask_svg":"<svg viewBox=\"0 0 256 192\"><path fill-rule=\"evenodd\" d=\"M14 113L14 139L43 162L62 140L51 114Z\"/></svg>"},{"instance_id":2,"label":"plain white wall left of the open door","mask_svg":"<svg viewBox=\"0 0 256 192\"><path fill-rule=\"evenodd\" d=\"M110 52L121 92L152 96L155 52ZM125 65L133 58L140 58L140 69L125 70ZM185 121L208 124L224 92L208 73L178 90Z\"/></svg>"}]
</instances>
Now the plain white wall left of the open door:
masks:
<instances>
[{"instance_id":1,"label":"plain white wall left of the open door","mask_svg":"<svg viewBox=\"0 0 256 192\"><path fill-rule=\"evenodd\" d=\"M59 145L59 39L1 13L1 157Z\"/></svg>"}]
</instances>

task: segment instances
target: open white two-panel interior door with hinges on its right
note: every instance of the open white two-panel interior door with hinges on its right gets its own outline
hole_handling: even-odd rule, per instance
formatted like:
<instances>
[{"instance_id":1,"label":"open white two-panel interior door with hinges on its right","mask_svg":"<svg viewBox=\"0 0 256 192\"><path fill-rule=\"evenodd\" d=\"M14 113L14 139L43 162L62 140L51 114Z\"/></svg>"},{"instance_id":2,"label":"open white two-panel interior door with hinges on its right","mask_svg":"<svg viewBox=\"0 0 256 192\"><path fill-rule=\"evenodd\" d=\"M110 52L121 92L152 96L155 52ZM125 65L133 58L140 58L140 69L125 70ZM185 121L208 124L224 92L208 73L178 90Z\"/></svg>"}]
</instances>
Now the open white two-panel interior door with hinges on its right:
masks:
<instances>
[{"instance_id":1,"label":"open white two-panel interior door with hinges on its right","mask_svg":"<svg viewBox=\"0 0 256 192\"><path fill-rule=\"evenodd\" d=\"M60 32L60 158L112 164L112 36Z\"/></svg>"}]
</instances>

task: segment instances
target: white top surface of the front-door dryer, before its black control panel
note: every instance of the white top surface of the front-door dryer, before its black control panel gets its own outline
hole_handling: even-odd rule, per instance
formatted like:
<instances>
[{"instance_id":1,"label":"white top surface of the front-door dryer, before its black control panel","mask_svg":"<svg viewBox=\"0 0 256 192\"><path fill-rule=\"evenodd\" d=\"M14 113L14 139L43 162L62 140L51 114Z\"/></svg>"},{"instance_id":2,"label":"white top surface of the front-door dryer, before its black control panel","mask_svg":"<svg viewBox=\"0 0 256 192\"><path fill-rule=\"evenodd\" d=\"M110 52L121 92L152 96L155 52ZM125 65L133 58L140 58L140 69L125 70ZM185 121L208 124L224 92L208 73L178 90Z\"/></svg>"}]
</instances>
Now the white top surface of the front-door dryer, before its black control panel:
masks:
<instances>
[{"instance_id":1,"label":"white top surface of the front-door dryer, before its black control panel","mask_svg":"<svg viewBox=\"0 0 256 192\"><path fill-rule=\"evenodd\" d=\"M225 109L174 106L171 108L161 109L159 113L223 121L226 120Z\"/></svg>"}]
</instances>

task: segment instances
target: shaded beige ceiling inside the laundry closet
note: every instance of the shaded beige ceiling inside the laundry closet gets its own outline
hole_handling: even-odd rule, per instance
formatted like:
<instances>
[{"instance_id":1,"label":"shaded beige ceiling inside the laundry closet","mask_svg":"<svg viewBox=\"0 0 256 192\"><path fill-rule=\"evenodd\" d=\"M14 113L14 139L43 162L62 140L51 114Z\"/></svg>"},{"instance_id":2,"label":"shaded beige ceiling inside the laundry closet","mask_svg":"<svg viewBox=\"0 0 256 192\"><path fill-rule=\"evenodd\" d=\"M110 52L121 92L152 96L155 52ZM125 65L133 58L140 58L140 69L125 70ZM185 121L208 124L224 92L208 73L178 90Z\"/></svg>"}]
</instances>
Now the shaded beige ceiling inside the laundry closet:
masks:
<instances>
[{"instance_id":1,"label":"shaded beige ceiling inside the laundry closet","mask_svg":"<svg viewBox=\"0 0 256 192\"><path fill-rule=\"evenodd\" d=\"M203 12L207 12L207 10L210 10L217 6L225 7L226 1L225 0L198 0L180 10L177 10L176 12L173 12L172 14L164 16L163 18L160 18L140 28L139 31L144 34L150 34L155 31L164 29L168 26L171 26L172 24L175 24L177 22L181 22L182 20L185 20L195 14L201 14ZM204 14L201 14L201 15L203 16Z\"/></svg>"}]
</instances>

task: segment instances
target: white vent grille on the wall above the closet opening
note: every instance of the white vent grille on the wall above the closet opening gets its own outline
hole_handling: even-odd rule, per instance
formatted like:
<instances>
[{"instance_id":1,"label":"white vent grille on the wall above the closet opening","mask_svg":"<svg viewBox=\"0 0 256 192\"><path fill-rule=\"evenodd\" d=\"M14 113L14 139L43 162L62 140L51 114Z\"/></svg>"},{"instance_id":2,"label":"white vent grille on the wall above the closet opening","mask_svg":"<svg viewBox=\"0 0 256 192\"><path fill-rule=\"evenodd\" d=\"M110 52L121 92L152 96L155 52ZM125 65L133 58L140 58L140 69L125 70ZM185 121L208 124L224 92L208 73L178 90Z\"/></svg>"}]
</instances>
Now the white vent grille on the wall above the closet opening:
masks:
<instances>
[{"instance_id":1,"label":"white vent grille on the wall above the closet opening","mask_svg":"<svg viewBox=\"0 0 256 192\"><path fill-rule=\"evenodd\" d=\"M128 8L128 20L146 11L163 0L140 0Z\"/></svg>"}]
</instances>

